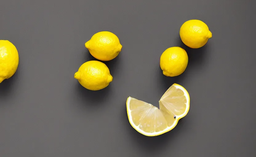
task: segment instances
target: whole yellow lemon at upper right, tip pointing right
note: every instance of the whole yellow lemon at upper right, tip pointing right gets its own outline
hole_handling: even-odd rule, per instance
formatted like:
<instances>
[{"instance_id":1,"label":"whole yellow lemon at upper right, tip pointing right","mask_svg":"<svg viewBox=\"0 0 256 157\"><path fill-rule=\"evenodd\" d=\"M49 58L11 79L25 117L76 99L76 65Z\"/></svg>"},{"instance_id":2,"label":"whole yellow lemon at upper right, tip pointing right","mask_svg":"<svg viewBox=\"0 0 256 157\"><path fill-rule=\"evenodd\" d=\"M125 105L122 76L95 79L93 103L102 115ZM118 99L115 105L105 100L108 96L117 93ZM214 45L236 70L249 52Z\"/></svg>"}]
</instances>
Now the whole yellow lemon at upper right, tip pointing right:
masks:
<instances>
[{"instance_id":1,"label":"whole yellow lemon at upper right, tip pointing right","mask_svg":"<svg viewBox=\"0 0 256 157\"><path fill-rule=\"evenodd\" d=\"M180 28L180 38L190 48L201 48L211 37L208 26L200 20L186 21Z\"/></svg>"}]
</instances>

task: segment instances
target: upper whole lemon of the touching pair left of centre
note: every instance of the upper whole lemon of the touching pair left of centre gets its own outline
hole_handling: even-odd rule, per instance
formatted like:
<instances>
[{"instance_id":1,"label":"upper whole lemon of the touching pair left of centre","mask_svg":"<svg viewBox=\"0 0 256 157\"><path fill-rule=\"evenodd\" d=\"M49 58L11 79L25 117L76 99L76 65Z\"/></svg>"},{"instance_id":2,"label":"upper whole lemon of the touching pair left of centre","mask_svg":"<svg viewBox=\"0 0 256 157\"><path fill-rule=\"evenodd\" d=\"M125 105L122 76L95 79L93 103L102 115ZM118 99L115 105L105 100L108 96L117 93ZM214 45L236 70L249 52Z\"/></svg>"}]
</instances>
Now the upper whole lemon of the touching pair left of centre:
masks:
<instances>
[{"instance_id":1,"label":"upper whole lemon of the touching pair left of centre","mask_svg":"<svg viewBox=\"0 0 256 157\"><path fill-rule=\"evenodd\" d=\"M118 56L122 50L122 45L118 37L111 32L103 31L94 34L89 41L85 43L90 54L94 58L102 61L109 61Z\"/></svg>"}]
</instances>

